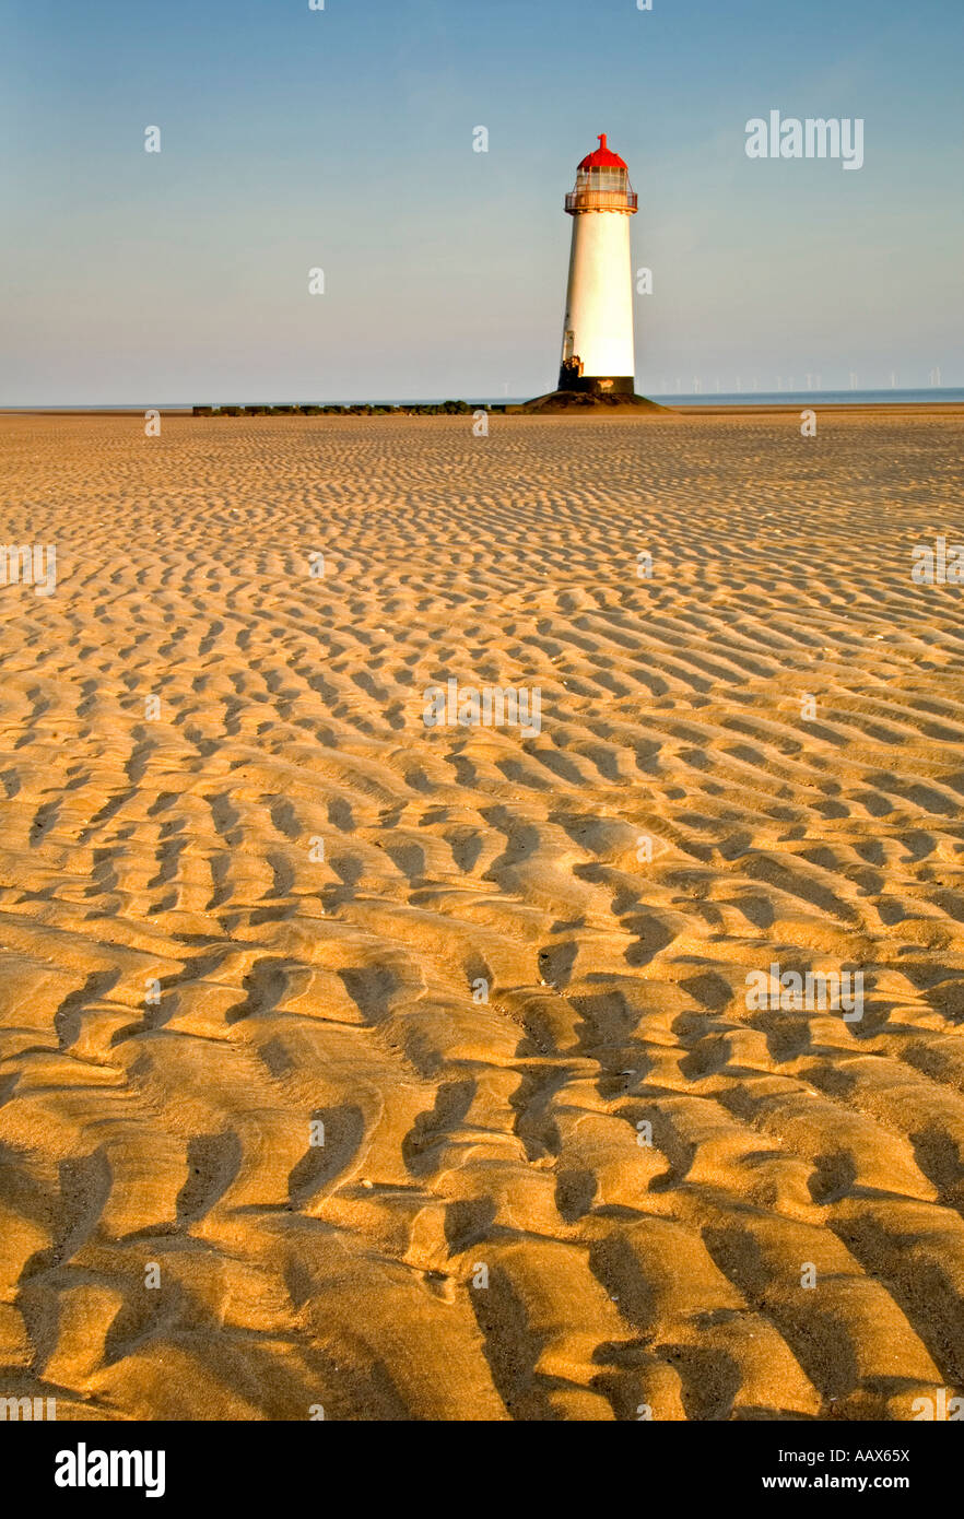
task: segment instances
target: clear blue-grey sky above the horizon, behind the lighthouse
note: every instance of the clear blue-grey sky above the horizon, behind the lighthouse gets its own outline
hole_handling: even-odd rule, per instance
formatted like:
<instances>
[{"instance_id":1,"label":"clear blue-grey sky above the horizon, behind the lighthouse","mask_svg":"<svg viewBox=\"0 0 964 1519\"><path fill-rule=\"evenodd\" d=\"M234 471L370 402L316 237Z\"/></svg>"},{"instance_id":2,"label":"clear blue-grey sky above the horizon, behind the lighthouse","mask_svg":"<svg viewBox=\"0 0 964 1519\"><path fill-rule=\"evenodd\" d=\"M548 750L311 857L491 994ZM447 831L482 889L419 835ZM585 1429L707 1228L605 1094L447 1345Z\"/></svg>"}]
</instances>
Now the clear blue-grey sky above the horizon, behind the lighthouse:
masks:
<instances>
[{"instance_id":1,"label":"clear blue-grey sky above the horizon, behind the lighthouse","mask_svg":"<svg viewBox=\"0 0 964 1519\"><path fill-rule=\"evenodd\" d=\"M603 131L653 269L639 390L964 384L961 0L0 0L0 404L550 390ZM770 109L862 117L864 167L748 159Z\"/></svg>"}]
</instances>

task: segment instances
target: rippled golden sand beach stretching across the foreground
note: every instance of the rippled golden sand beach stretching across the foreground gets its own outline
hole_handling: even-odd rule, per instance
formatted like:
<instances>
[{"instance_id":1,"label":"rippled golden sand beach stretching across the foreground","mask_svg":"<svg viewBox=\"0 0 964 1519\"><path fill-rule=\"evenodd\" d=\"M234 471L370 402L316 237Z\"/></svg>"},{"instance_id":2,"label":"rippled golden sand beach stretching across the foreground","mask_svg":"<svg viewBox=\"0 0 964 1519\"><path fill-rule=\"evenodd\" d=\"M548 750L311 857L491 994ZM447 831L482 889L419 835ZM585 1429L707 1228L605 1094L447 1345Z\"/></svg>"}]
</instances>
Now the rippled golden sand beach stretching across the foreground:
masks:
<instances>
[{"instance_id":1,"label":"rippled golden sand beach stretching across the foreground","mask_svg":"<svg viewBox=\"0 0 964 1519\"><path fill-rule=\"evenodd\" d=\"M0 1394L964 1388L961 422L0 418Z\"/></svg>"}]
</instances>

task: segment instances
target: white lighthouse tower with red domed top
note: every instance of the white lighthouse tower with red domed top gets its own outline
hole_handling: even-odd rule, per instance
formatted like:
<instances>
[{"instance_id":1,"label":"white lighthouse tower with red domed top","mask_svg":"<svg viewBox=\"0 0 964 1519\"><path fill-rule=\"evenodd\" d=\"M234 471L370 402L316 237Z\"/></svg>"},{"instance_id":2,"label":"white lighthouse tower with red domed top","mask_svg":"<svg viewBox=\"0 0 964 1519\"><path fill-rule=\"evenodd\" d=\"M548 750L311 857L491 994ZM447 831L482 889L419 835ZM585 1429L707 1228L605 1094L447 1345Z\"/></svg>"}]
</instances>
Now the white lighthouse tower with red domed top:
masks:
<instances>
[{"instance_id":1,"label":"white lighthouse tower with red domed top","mask_svg":"<svg viewBox=\"0 0 964 1519\"><path fill-rule=\"evenodd\" d=\"M633 267L630 216L638 197L618 153L600 146L575 170L566 196L572 251L562 334L560 390L633 395Z\"/></svg>"}]
</instances>

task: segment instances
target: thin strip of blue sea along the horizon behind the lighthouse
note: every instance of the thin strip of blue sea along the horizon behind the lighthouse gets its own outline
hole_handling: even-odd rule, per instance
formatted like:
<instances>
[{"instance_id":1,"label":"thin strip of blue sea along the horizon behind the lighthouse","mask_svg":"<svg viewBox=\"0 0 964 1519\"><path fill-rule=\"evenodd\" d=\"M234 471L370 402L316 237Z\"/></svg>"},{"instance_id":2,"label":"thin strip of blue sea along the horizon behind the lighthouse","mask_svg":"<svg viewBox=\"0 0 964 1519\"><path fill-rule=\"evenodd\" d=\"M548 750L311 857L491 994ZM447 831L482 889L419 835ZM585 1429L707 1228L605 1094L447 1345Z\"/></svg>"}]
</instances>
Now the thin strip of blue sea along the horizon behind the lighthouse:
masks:
<instances>
[{"instance_id":1,"label":"thin strip of blue sea along the horizon behind the lighthouse","mask_svg":"<svg viewBox=\"0 0 964 1519\"><path fill-rule=\"evenodd\" d=\"M644 392L645 393L645 392ZM0 412L144 412L150 407L159 407L165 412L185 410L190 412L191 406L440 406L443 401L466 401L468 406L521 406L524 401L531 401L533 396L528 395L490 395L490 396L458 396L458 395L430 395L430 396L405 396L390 398L390 396L370 396L366 399L340 399L340 401L317 401L313 398L302 398L301 401L260 401L246 399L240 401L232 396L223 396L219 399L203 399L203 401L144 401L140 406L115 404L112 401L102 401L99 406L73 406L67 403L50 403L47 406L3 406ZM668 395L659 395L653 392L650 395L651 401L660 401L663 406L934 406L935 403L964 403L964 389L955 386L928 386L926 390L701 390L698 395L692 392L679 393L669 392Z\"/></svg>"}]
</instances>

